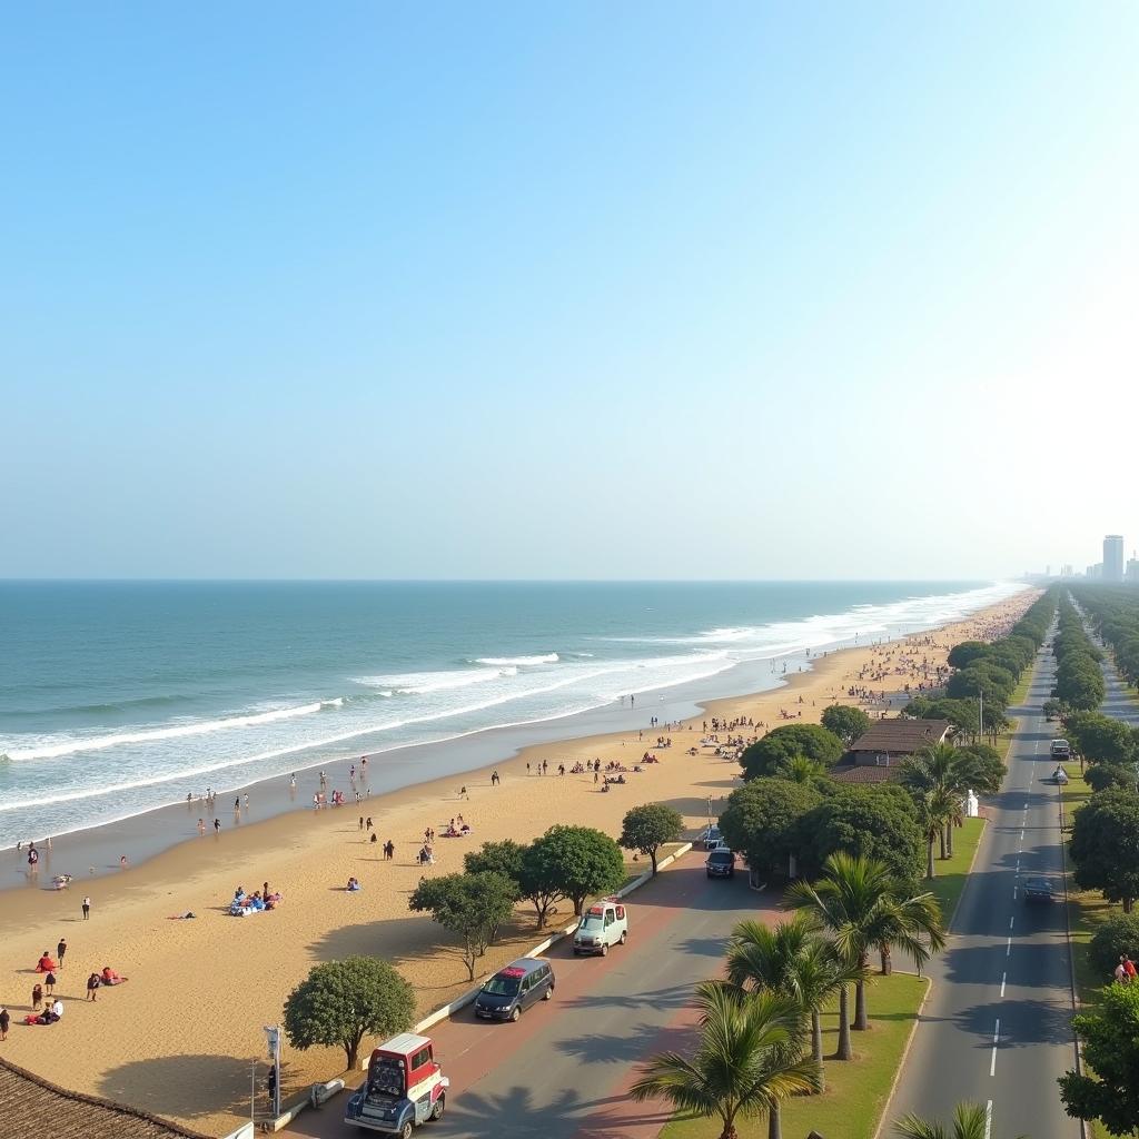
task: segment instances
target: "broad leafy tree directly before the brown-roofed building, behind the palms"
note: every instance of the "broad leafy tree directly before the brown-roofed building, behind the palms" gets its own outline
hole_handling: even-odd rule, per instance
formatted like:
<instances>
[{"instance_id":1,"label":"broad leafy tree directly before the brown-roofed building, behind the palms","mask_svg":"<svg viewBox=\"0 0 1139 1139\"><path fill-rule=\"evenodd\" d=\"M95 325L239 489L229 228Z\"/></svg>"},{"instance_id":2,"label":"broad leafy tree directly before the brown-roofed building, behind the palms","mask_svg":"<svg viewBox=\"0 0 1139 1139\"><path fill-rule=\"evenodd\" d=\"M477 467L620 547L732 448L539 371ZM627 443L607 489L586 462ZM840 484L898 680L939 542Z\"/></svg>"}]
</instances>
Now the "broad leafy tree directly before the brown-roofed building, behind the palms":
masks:
<instances>
[{"instance_id":1,"label":"broad leafy tree directly before the brown-roofed building, behind the palms","mask_svg":"<svg viewBox=\"0 0 1139 1139\"><path fill-rule=\"evenodd\" d=\"M842 787L823 800L800 827L803 858L819 870L836 851L885 862L911 883L925 872L925 844L917 812L904 787Z\"/></svg>"}]
</instances>

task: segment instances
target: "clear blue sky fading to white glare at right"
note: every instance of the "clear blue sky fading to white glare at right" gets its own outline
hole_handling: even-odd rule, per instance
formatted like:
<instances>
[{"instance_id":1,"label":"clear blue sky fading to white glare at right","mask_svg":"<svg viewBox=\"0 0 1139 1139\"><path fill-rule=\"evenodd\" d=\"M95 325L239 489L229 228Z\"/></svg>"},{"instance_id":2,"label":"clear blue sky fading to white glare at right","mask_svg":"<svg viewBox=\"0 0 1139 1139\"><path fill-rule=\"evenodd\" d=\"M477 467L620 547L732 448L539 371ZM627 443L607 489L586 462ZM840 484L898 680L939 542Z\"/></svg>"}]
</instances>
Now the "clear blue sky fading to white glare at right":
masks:
<instances>
[{"instance_id":1,"label":"clear blue sky fading to white glare at right","mask_svg":"<svg viewBox=\"0 0 1139 1139\"><path fill-rule=\"evenodd\" d=\"M1139 9L28 6L0 575L1139 544Z\"/></svg>"}]
</instances>

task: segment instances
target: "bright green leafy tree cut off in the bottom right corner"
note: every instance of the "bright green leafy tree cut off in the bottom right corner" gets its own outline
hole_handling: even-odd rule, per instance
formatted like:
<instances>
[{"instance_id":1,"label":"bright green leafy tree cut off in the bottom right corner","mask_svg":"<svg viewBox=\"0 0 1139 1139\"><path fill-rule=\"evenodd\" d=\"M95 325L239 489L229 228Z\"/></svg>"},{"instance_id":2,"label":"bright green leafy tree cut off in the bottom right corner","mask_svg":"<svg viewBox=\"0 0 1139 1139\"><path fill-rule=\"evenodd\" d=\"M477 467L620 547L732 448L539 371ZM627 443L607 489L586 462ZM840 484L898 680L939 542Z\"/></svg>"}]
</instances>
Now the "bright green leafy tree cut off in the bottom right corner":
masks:
<instances>
[{"instance_id":1,"label":"bright green leafy tree cut off in the bottom right corner","mask_svg":"<svg viewBox=\"0 0 1139 1139\"><path fill-rule=\"evenodd\" d=\"M1060 1076L1065 1111L1100 1120L1114 1136L1131 1134L1139 1128L1139 985L1107 985L1095 1011L1074 1016L1072 1024L1089 1074Z\"/></svg>"}]
</instances>

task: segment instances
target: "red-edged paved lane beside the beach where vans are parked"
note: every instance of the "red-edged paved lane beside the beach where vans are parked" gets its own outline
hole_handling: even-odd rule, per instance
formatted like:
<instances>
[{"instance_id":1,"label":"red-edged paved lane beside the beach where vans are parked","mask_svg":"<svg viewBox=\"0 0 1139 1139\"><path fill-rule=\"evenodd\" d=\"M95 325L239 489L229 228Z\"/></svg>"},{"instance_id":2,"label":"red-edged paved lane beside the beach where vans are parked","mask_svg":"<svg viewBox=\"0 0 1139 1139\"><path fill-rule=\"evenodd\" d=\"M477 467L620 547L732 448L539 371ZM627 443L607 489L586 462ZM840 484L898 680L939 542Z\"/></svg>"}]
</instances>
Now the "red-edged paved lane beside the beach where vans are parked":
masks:
<instances>
[{"instance_id":1,"label":"red-edged paved lane beside the beach where vans are parked","mask_svg":"<svg viewBox=\"0 0 1139 1139\"><path fill-rule=\"evenodd\" d=\"M433 1031L451 1095L425 1139L655 1139L667 1116L659 1105L630 1103L637 1064L690 1031L693 985L719 973L732 926L775 910L746 875L708 880L698 851L630 901L626 945L605 958L577 959L565 945L550 952L554 1000L517 1024L475 1021L467 1009ZM342 1122L343 1111L337 1097L289 1130L363 1134Z\"/></svg>"}]
</instances>

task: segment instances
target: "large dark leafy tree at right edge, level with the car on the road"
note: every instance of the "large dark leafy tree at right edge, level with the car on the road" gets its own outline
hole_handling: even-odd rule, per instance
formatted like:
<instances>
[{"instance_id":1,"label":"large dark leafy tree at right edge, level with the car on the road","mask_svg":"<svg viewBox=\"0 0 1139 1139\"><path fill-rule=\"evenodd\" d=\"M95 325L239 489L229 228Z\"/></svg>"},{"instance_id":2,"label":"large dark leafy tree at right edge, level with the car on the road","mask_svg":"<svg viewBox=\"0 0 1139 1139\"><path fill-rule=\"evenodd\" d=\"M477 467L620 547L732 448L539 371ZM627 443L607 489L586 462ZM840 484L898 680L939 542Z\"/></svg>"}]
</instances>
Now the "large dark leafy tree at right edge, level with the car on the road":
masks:
<instances>
[{"instance_id":1,"label":"large dark leafy tree at right edge, level with the car on the road","mask_svg":"<svg viewBox=\"0 0 1139 1139\"><path fill-rule=\"evenodd\" d=\"M1081 890L1099 890L1130 913L1139 898L1139 794L1112 787L1072 819L1072 861Z\"/></svg>"}]
</instances>

